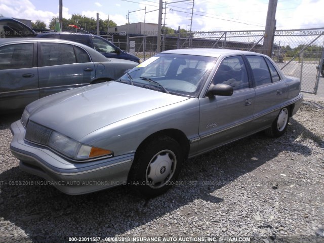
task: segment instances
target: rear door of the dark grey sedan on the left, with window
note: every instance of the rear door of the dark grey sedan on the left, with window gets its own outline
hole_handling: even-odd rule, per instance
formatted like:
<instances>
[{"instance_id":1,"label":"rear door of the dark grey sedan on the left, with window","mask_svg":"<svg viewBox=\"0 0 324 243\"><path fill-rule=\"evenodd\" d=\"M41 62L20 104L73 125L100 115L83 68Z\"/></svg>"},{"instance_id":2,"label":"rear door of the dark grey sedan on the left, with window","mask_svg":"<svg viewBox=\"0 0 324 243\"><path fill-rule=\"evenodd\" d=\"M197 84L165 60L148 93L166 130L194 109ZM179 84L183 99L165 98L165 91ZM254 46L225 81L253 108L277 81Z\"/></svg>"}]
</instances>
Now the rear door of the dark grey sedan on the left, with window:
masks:
<instances>
[{"instance_id":1,"label":"rear door of the dark grey sedan on the left, with window","mask_svg":"<svg viewBox=\"0 0 324 243\"><path fill-rule=\"evenodd\" d=\"M41 97L89 85L96 79L88 53L66 43L38 43L38 80Z\"/></svg>"}]
</instances>

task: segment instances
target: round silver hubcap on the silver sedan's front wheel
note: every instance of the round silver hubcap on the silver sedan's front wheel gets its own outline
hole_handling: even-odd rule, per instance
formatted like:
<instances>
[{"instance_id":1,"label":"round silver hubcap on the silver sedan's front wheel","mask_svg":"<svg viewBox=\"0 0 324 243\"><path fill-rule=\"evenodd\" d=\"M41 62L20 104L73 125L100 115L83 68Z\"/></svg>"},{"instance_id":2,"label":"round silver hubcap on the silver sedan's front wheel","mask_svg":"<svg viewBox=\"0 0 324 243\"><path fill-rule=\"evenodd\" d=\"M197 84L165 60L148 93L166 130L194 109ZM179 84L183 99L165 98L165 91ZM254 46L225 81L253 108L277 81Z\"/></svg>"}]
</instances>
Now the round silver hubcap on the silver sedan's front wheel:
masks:
<instances>
[{"instance_id":1,"label":"round silver hubcap on the silver sedan's front wheel","mask_svg":"<svg viewBox=\"0 0 324 243\"><path fill-rule=\"evenodd\" d=\"M177 158L171 150L156 153L146 169L146 182L149 187L157 189L165 186L176 170Z\"/></svg>"}]
</instances>

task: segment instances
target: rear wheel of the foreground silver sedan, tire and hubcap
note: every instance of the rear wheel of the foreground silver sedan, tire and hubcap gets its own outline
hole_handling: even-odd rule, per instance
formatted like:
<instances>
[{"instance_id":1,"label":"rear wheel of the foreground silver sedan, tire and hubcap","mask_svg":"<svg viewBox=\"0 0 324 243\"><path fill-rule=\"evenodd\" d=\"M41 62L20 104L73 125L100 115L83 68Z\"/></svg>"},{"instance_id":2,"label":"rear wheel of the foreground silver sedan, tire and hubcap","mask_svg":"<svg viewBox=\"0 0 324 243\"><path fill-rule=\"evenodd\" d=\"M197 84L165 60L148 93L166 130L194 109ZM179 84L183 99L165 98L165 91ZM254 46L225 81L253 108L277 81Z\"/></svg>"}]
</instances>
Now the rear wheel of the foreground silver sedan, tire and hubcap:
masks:
<instances>
[{"instance_id":1,"label":"rear wheel of the foreground silver sedan, tire and hubcap","mask_svg":"<svg viewBox=\"0 0 324 243\"><path fill-rule=\"evenodd\" d=\"M290 118L290 110L289 107L282 108L278 114L278 116L273 121L270 128L265 130L265 133L270 137L280 137L282 136L288 127L288 122Z\"/></svg>"}]
</instances>

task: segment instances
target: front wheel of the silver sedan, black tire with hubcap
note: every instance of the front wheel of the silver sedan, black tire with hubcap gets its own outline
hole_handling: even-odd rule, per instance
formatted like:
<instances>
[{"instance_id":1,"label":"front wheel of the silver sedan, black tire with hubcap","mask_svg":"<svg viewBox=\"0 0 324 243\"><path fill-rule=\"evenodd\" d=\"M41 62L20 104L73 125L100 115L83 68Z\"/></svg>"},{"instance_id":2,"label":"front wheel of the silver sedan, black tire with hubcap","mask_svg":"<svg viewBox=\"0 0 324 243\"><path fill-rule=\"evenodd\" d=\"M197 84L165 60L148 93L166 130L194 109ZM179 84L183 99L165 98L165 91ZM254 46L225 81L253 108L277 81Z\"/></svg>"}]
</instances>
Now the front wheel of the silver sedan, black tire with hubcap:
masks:
<instances>
[{"instance_id":1,"label":"front wheel of the silver sedan, black tire with hubcap","mask_svg":"<svg viewBox=\"0 0 324 243\"><path fill-rule=\"evenodd\" d=\"M136 152L129 174L129 185L147 198L165 193L178 178L183 152L168 136L150 139Z\"/></svg>"}]
</instances>

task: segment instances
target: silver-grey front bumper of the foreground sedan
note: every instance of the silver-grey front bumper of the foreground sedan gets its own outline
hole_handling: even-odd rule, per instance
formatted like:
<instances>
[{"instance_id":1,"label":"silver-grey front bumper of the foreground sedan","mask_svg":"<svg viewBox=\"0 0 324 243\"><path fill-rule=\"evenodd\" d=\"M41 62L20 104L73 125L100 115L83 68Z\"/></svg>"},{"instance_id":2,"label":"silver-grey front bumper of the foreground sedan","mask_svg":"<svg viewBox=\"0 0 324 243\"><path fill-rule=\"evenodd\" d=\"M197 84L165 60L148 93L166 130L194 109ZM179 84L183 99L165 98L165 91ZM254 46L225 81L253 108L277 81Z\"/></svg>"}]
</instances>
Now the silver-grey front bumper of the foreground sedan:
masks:
<instances>
[{"instance_id":1,"label":"silver-grey front bumper of the foreground sedan","mask_svg":"<svg viewBox=\"0 0 324 243\"><path fill-rule=\"evenodd\" d=\"M25 141L25 128L20 120L11 125L11 132L14 137L10 150L20 159L19 168L46 179L50 185L66 194L85 194L127 182L134 154L75 163L49 148Z\"/></svg>"}]
</instances>

